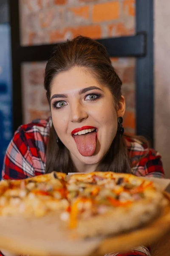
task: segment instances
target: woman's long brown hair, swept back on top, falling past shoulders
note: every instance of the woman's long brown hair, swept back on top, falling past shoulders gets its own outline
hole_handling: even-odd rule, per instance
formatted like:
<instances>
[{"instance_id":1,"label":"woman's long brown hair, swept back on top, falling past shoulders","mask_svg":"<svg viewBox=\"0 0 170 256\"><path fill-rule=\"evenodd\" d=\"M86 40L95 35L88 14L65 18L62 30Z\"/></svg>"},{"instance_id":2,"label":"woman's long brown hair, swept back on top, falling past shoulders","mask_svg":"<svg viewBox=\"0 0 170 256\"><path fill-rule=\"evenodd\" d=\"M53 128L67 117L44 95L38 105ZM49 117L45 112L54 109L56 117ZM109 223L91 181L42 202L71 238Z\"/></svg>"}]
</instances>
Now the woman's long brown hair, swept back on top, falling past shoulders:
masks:
<instances>
[{"instance_id":1,"label":"woman's long brown hair, swept back on top, falling past shoulders","mask_svg":"<svg viewBox=\"0 0 170 256\"><path fill-rule=\"evenodd\" d=\"M54 76L73 67L85 67L99 81L108 86L116 104L119 103L122 81L116 74L108 52L102 44L91 38L78 36L60 43L55 48L45 68L45 90L50 104L51 83ZM68 149L59 140L52 125L46 151L46 172L76 172ZM130 159L124 136L117 131L111 147L98 166L99 171L130 172Z\"/></svg>"}]
</instances>

